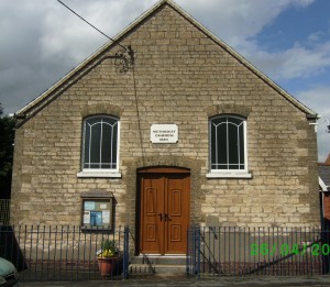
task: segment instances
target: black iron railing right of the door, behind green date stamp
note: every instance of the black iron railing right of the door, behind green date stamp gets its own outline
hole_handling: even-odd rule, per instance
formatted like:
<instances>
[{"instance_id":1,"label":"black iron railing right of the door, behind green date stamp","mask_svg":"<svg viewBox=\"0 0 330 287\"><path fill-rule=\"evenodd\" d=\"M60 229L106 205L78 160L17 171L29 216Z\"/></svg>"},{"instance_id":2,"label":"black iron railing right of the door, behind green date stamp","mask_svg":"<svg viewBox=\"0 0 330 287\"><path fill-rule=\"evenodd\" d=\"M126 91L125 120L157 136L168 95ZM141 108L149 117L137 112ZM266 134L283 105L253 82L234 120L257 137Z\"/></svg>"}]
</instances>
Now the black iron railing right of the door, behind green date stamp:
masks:
<instances>
[{"instance_id":1,"label":"black iron railing right of the door, behind green date stamp","mask_svg":"<svg viewBox=\"0 0 330 287\"><path fill-rule=\"evenodd\" d=\"M321 275L329 273L330 231L315 228L191 228L187 273Z\"/></svg>"}]
</instances>

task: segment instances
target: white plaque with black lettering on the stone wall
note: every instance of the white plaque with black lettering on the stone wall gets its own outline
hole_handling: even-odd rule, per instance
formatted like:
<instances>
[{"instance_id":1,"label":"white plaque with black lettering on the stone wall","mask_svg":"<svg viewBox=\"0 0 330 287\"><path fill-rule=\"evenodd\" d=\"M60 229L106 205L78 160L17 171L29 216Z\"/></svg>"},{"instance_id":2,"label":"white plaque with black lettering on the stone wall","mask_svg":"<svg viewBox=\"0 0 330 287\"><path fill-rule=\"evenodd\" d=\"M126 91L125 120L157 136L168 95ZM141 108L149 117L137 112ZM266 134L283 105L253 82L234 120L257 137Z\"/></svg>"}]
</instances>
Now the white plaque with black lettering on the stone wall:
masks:
<instances>
[{"instance_id":1,"label":"white plaque with black lettering on the stone wall","mask_svg":"<svg viewBox=\"0 0 330 287\"><path fill-rule=\"evenodd\" d=\"M178 128L176 124L152 124L150 140L152 143L177 143Z\"/></svg>"}]
</instances>

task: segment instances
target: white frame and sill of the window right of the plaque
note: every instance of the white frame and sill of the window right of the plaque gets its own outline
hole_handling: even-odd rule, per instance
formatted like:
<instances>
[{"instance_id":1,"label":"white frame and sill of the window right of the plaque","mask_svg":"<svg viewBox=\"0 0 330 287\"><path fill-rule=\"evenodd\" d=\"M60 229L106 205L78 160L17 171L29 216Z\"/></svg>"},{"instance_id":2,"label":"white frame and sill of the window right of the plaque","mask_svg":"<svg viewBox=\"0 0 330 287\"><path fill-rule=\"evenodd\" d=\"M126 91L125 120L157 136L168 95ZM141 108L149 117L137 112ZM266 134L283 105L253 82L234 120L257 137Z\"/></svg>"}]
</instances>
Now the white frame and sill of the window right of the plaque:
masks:
<instances>
[{"instance_id":1,"label":"white frame and sill of the window right of the plaque","mask_svg":"<svg viewBox=\"0 0 330 287\"><path fill-rule=\"evenodd\" d=\"M211 124L212 120L219 118L234 118L242 120L243 124L243 136L244 136L244 168L243 169L212 169L211 163ZM206 175L207 178L252 178L252 175L248 169L248 132L246 132L246 118L235 114L219 114L209 119L209 173Z\"/></svg>"}]
</instances>

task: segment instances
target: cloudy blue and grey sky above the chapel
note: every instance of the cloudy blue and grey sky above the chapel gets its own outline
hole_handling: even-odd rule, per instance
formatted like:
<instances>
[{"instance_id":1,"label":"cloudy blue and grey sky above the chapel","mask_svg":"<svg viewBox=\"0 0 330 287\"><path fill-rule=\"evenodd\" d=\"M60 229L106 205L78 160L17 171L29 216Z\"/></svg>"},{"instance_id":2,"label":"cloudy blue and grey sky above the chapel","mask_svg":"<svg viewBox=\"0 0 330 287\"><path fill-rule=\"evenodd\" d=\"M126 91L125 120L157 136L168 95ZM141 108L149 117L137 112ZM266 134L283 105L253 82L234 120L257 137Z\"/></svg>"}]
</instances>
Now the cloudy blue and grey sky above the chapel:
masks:
<instances>
[{"instance_id":1,"label":"cloudy blue and grey sky above the chapel","mask_svg":"<svg viewBox=\"0 0 330 287\"><path fill-rule=\"evenodd\" d=\"M157 0L62 0L113 37ZM329 0L176 0L193 18L322 118L330 153ZM57 0L0 0L0 102L15 113L108 42Z\"/></svg>"}]
</instances>

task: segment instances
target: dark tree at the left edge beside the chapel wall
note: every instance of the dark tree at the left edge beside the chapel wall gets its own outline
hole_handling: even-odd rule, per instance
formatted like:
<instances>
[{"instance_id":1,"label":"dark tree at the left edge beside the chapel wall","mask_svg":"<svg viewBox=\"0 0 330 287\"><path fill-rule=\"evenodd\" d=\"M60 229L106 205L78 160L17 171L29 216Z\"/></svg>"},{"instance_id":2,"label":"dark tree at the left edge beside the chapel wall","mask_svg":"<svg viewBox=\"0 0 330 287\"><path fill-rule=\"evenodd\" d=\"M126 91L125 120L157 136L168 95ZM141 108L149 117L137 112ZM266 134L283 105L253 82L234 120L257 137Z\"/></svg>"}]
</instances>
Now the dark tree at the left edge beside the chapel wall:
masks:
<instances>
[{"instance_id":1,"label":"dark tree at the left edge beside the chapel wall","mask_svg":"<svg viewBox=\"0 0 330 287\"><path fill-rule=\"evenodd\" d=\"M11 195L11 174L15 120L2 117L0 103L0 198L9 199Z\"/></svg>"}]
</instances>

